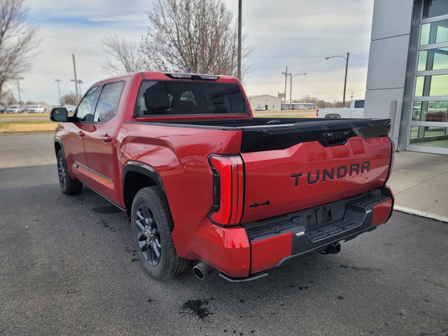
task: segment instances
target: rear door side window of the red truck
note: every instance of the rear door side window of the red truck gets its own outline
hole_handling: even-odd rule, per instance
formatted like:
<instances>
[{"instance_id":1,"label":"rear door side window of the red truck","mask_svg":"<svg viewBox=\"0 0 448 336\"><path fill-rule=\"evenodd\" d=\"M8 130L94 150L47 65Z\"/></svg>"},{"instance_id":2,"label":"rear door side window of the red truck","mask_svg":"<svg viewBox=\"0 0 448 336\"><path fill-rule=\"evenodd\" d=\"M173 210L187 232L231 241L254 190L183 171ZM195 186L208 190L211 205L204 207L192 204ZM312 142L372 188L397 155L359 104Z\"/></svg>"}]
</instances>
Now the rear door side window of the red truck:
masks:
<instances>
[{"instance_id":1,"label":"rear door side window of the red truck","mask_svg":"<svg viewBox=\"0 0 448 336\"><path fill-rule=\"evenodd\" d=\"M125 82L106 84L99 94L97 109L94 113L95 123L106 123L116 115L120 103L121 92Z\"/></svg>"}]
</instances>

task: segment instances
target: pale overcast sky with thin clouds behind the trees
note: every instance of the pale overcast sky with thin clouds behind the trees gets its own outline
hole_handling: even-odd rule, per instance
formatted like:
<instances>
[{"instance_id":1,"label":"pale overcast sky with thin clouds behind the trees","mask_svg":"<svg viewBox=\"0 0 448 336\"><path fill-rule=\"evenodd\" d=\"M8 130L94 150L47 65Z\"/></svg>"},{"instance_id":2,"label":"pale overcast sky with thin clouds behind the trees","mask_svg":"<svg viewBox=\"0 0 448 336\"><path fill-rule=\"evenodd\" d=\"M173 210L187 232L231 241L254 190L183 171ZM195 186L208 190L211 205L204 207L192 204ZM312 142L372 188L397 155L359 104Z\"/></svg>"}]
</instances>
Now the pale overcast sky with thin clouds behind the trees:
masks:
<instances>
[{"instance_id":1,"label":"pale overcast sky with thin clouds behind the trees","mask_svg":"<svg viewBox=\"0 0 448 336\"><path fill-rule=\"evenodd\" d=\"M347 99L363 98L367 77L374 0L243 0L244 31L255 49L246 64L248 95L284 91L281 72L307 73L293 79L293 99L309 94L342 100L345 59L326 56L350 52ZM237 18L238 0L225 0ZM140 41L146 34L146 11L152 0L29 0L31 20L40 25L41 52L25 80L22 100L57 104L61 94L74 92L73 63L83 93L109 75L102 38L118 34ZM17 89L13 87L15 91ZM289 99L289 79L287 97ZM16 93L16 92L15 92Z\"/></svg>"}]
</instances>

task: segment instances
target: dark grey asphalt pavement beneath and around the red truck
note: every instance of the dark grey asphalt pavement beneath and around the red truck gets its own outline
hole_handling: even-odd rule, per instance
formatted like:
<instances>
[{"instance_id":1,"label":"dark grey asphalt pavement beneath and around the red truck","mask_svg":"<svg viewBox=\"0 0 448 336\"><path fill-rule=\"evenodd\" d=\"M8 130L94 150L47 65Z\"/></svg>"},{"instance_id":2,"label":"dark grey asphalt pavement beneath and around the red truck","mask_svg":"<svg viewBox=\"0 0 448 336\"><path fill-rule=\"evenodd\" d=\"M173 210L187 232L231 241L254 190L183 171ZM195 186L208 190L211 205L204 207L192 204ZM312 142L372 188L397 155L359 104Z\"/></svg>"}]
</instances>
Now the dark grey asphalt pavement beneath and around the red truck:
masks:
<instances>
[{"instance_id":1,"label":"dark grey asphalt pavement beneath and around the red truck","mask_svg":"<svg viewBox=\"0 0 448 336\"><path fill-rule=\"evenodd\" d=\"M62 194L54 164L0 169L0 204L0 335L448 335L447 223L395 212L258 281L158 282L124 214Z\"/></svg>"}]
</instances>

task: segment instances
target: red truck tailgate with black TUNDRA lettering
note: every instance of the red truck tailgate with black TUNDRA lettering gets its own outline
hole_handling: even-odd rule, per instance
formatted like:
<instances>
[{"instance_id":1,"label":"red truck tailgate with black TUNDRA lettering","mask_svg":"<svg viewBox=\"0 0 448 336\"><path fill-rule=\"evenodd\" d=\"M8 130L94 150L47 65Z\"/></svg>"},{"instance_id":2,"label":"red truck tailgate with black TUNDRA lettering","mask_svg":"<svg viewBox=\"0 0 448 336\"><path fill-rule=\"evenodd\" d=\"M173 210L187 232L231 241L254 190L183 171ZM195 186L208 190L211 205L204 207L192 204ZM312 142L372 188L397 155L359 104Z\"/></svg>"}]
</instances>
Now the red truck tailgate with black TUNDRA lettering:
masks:
<instances>
[{"instance_id":1,"label":"red truck tailgate with black TUNDRA lettering","mask_svg":"<svg viewBox=\"0 0 448 336\"><path fill-rule=\"evenodd\" d=\"M380 128L317 132L315 141L270 151L244 153L243 146L246 184L241 223L316 207L383 186L392 145L387 130ZM328 140L328 134L334 137ZM309 134L302 135L311 139ZM337 141L344 144L337 145ZM251 148L257 148L257 142L252 141Z\"/></svg>"}]
</instances>

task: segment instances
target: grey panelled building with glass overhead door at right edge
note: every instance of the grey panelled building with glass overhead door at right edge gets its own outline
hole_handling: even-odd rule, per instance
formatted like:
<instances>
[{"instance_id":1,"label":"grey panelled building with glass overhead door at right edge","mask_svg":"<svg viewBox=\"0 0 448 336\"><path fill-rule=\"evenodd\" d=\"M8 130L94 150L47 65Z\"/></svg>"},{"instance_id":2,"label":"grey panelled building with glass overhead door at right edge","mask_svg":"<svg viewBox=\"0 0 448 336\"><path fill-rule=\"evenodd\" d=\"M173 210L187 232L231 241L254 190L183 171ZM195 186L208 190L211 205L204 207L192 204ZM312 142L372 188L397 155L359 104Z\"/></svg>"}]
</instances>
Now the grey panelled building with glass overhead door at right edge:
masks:
<instances>
[{"instance_id":1,"label":"grey panelled building with glass overhead door at right edge","mask_svg":"<svg viewBox=\"0 0 448 336\"><path fill-rule=\"evenodd\" d=\"M374 1L364 116L390 110L398 149L448 154L447 0Z\"/></svg>"}]
</instances>

